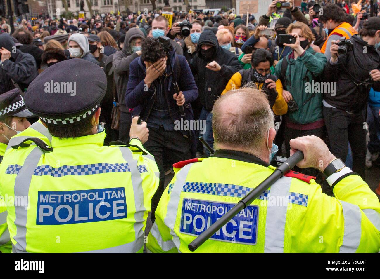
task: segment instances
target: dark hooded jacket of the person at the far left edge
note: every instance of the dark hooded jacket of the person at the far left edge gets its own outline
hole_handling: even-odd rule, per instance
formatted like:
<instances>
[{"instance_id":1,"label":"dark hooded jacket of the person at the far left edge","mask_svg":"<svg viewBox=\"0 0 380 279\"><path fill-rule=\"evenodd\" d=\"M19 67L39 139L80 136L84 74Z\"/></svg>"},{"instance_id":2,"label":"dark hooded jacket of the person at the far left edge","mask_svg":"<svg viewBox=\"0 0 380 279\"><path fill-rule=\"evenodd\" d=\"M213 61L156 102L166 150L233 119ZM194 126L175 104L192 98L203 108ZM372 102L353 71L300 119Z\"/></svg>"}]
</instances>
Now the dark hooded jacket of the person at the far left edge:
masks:
<instances>
[{"instance_id":1,"label":"dark hooded jacket of the person at the far left edge","mask_svg":"<svg viewBox=\"0 0 380 279\"><path fill-rule=\"evenodd\" d=\"M0 35L0 49L2 47L11 52L11 58L0 63L0 94L15 88L11 79L24 91L38 75L36 61L32 55L16 49L8 33Z\"/></svg>"}]
</instances>

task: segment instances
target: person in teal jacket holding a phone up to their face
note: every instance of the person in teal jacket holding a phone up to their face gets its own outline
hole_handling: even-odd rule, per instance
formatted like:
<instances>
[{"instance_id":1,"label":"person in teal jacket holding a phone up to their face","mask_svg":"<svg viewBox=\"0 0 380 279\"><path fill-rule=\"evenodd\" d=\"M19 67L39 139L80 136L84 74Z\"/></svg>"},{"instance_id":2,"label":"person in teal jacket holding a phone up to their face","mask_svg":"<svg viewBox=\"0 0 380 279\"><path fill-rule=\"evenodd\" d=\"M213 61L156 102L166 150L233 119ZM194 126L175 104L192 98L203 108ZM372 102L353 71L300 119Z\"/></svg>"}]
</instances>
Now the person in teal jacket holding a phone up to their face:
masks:
<instances>
[{"instance_id":1,"label":"person in teal jacket holding a phone up to their face","mask_svg":"<svg viewBox=\"0 0 380 279\"><path fill-rule=\"evenodd\" d=\"M275 76L282 80L283 96L288 102L284 137L289 156L290 139L323 136L323 126L325 126L322 113L323 92L320 86L317 87L317 77L322 73L327 60L323 53L317 53L310 47L314 36L306 24L302 22L290 24L287 34L294 36L296 42L284 44L291 47L292 51L277 63ZM281 68L285 59L287 68L283 75ZM294 109L291 109L292 104Z\"/></svg>"}]
</instances>

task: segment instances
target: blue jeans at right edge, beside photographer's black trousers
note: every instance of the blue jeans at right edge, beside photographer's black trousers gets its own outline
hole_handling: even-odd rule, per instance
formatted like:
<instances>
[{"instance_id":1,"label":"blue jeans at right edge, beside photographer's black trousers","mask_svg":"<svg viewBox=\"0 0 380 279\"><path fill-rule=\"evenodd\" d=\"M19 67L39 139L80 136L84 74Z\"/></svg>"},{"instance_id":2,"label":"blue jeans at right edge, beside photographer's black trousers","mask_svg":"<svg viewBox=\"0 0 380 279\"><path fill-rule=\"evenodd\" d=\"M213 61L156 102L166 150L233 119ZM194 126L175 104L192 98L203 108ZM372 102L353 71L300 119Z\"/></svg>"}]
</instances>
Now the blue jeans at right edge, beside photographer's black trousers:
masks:
<instances>
[{"instance_id":1,"label":"blue jeans at right edge, beside photographer's black trousers","mask_svg":"<svg viewBox=\"0 0 380 279\"><path fill-rule=\"evenodd\" d=\"M368 106L367 123L369 129L368 151L371 154L380 151L380 107Z\"/></svg>"}]
</instances>

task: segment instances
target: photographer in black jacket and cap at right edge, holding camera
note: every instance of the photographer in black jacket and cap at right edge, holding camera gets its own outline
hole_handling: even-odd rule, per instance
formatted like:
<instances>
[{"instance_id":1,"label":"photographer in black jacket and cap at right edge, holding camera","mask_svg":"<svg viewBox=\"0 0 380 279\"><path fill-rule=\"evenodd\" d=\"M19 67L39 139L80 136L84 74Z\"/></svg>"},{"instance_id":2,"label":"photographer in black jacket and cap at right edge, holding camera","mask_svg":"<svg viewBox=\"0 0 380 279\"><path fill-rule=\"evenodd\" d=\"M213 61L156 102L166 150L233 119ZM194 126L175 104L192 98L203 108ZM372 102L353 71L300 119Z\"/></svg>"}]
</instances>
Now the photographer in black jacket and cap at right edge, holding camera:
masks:
<instances>
[{"instance_id":1,"label":"photographer in black jacket and cap at right edge, holding camera","mask_svg":"<svg viewBox=\"0 0 380 279\"><path fill-rule=\"evenodd\" d=\"M364 179L366 107L370 88L380 90L380 18L370 17L350 40L332 41L323 79L336 83L323 96L323 116L331 152L345 160L350 143L353 171ZM365 51L364 51L365 50Z\"/></svg>"}]
</instances>

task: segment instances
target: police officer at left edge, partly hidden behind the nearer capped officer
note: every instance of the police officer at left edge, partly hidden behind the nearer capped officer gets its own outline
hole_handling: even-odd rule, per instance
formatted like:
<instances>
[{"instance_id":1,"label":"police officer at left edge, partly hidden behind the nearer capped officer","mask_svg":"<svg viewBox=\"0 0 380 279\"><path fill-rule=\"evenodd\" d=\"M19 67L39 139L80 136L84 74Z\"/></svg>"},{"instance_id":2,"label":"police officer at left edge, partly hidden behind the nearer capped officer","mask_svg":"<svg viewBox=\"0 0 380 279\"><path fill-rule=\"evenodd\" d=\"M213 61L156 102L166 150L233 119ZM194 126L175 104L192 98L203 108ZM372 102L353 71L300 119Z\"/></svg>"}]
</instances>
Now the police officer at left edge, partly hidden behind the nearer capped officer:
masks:
<instances>
[{"instance_id":1,"label":"police officer at left edge, partly hidden behind the nearer capped officer","mask_svg":"<svg viewBox=\"0 0 380 279\"><path fill-rule=\"evenodd\" d=\"M33 113L25 107L20 90L15 88L0 95L0 163L9 139L30 126L26 117ZM0 252L10 253L12 246L6 224L6 200L0 195Z\"/></svg>"}]
</instances>

